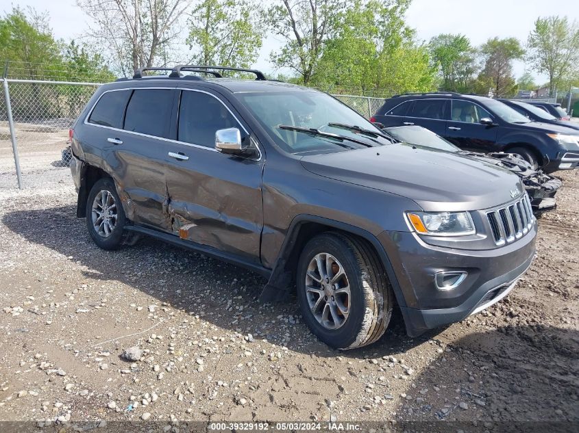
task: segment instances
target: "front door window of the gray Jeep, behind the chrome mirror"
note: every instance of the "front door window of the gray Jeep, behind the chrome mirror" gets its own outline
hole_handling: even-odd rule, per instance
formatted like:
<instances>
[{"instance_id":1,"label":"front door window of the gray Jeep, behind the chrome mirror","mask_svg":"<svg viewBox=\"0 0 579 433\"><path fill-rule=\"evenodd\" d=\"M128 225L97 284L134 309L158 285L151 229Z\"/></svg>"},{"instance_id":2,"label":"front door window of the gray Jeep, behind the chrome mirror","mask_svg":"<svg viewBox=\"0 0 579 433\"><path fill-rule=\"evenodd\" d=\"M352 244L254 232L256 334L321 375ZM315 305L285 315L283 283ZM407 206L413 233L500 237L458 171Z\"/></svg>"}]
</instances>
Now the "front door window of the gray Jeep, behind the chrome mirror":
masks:
<instances>
[{"instance_id":1,"label":"front door window of the gray Jeep, behind the chrome mirror","mask_svg":"<svg viewBox=\"0 0 579 433\"><path fill-rule=\"evenodd\" d=\"M238 122L221 101L206 93L182 91L177 130L180 142L214 147L218 129L238 127Z\"/></svg>"}]
</instances>

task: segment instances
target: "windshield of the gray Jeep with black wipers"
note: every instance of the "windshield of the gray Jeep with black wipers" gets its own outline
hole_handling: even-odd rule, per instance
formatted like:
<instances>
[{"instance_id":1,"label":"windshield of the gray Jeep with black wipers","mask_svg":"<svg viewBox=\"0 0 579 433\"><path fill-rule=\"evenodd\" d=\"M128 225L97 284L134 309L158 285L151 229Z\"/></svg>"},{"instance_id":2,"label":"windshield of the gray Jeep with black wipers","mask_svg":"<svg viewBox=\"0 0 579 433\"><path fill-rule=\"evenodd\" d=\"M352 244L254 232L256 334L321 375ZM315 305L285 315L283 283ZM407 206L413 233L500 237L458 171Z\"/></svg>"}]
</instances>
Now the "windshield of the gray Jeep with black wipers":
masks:
<instances>
[{"instance_id":1,"label":"windshield of the gray Jeep with black wipers","mask_svg":"<svg viewBox=\"0 0 579 433\"><path fill-rule=\"evenodd\" d=\"M391 144L383 137L373 137L360 131L328 125L329 123L344 124L380 134L380 129L371 122L325 93L297 90L293 92L247 92L238 93L236 96L254 114L275 143L288 153L297 155L341 152ZM285 128L280 128L280 126ZM322 133L351 137L358 143L315 133L304 133L287 127L317 129ZM367 144L359 143L360 140Z\"/></svg>"}]
</instances>

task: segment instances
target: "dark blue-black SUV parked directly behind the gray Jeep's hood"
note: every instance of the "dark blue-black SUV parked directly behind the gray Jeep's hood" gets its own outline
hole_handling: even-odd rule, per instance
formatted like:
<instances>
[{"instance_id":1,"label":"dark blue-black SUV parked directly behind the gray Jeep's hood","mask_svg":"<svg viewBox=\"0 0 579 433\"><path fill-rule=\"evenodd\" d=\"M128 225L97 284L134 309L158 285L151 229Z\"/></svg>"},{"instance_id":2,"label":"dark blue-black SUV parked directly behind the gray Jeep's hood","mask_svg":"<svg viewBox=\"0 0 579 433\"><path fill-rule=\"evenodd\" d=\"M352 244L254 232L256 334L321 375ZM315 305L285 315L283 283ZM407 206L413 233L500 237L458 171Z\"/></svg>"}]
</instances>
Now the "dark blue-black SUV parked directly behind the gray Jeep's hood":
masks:
<instances>
[{"instance_id":1,"label":"dark blue-black SUV parked directly behind the gray Jeep's hood","mask_svg":"<svg viewBox=\"0 0 579 433\"><path fill-rule=\"evenodd\" d=\"M579 165L579 131L532 122L500 101L452 92L396 95L371 118L386 127L416 124L474 152L516 153L547 173Z\"/></svg>"}]
</instances>

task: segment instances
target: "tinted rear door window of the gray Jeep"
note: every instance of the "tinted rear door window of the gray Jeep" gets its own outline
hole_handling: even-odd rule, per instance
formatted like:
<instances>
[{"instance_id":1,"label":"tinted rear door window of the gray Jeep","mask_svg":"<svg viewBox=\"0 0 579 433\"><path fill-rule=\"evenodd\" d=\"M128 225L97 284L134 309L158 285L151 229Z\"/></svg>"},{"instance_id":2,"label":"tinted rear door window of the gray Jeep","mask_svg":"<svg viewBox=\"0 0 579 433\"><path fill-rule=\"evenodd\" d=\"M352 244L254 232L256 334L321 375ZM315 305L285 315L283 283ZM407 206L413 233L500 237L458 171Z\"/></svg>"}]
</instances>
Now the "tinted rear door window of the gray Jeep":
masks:
<instances>
[{"instance_id":1,"label":"tinted rear door window of the gray Jeep","mask_svg":"<svg viewBox=\"0 0 579 433\"><path fill-rule=\"evenodd\" d=\"M125 116L125 130L155 137L169 137L173 90L135 90Z\"/></svg>"}]
</instances>

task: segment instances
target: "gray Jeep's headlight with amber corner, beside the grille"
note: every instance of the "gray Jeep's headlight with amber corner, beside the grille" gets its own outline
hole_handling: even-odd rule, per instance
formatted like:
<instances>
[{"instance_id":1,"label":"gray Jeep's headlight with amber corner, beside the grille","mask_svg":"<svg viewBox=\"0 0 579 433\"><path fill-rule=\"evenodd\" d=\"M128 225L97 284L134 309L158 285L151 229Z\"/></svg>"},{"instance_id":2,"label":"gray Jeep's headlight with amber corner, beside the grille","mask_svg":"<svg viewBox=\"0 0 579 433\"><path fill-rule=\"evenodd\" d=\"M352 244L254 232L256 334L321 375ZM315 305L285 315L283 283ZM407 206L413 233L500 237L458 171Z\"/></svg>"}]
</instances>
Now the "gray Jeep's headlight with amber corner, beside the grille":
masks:
<instances>
[{"instance_id":1,"label":"gray Jeep's headlight with amber corner, beside the grille","mask_svg":"<svg viewBox=\"0 0 579 433\"><path fill-rule=\"evenodd\" d=\"M421 235L465 236L476 230L469 212L407 212L410 225Z\"/></svg>"}]
</instances>

